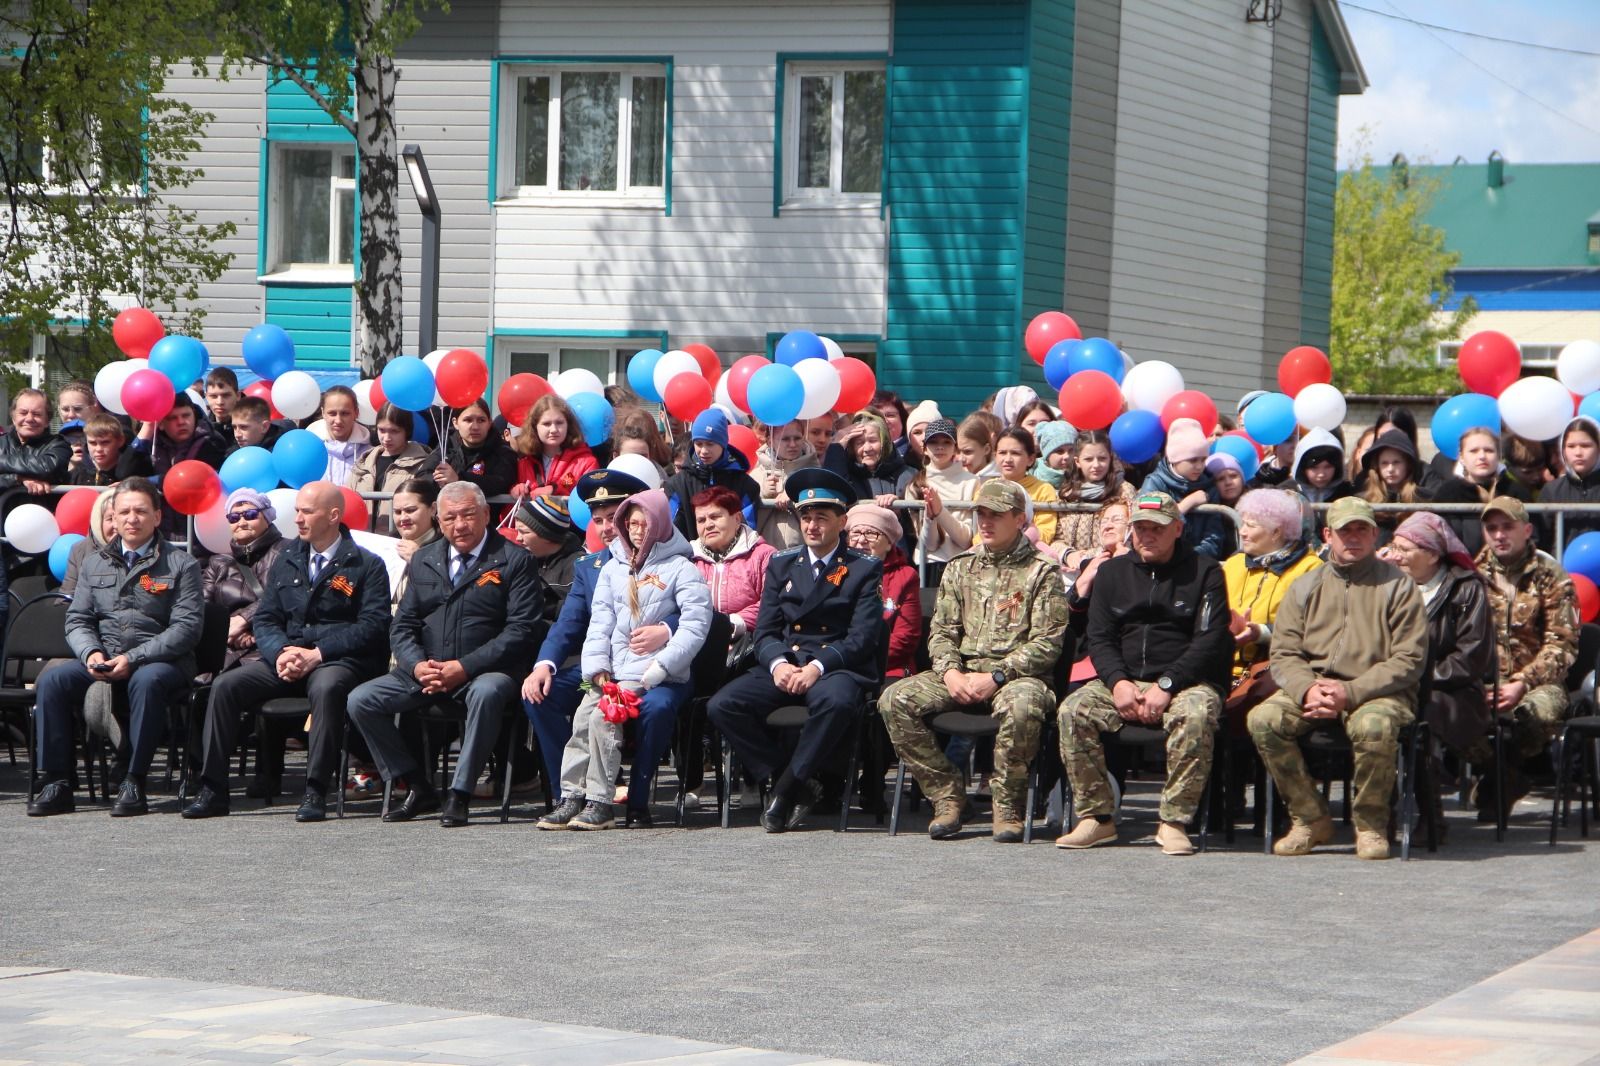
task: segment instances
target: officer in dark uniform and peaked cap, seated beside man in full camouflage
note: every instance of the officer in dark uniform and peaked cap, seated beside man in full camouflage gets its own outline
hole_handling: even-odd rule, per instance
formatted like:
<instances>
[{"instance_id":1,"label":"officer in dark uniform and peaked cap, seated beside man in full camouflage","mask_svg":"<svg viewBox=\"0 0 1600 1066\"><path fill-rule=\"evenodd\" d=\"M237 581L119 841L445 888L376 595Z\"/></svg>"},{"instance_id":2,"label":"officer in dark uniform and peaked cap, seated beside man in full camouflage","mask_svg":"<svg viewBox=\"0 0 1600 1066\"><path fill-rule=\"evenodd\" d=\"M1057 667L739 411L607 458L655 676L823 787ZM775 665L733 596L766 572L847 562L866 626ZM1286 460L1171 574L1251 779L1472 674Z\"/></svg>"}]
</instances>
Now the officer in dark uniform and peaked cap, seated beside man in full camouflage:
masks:
<instances>
[{"instance_id":1,"label":"officer in dark uniform and peaked cap, seated beside man in full camouflage","mask_svg":"<svg viewBox=\"0 0 1600 1066\"><path fill-rule=\"evenodd\" d=\"M816 771L850 736L867 690L878 683L883 565L845 547L850 482L824 469L798 471L784 483L805 547L773 555L755 623L757 666L718 691L707 715L757 779L774 778L762 813L766 832L794 829L818 804ZM808 717L784 763L766 728L774 709L805 703Z\"/></svg>"}]
</instances>

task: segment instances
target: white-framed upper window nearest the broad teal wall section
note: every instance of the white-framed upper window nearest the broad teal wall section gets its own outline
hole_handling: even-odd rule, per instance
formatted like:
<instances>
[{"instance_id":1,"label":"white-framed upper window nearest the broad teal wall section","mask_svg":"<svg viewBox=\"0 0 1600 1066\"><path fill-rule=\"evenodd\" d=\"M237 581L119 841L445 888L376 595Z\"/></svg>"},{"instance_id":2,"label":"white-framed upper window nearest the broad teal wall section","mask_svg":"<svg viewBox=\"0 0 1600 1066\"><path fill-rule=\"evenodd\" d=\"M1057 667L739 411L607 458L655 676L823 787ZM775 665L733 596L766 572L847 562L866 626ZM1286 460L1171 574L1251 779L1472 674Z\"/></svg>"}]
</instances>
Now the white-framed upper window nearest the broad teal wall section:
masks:
<instances>
[{"instance_id":1,"label":"white-framed upper window nearest the broad teal wall section","mask_svg":"<svg viewBox=\"0 0 1600 1066\"><path fill-rule=\"evenodd\" d=\"M882 61L786 64L786 202L880 202L885 86Z\"/></svg>"}]
</instances>

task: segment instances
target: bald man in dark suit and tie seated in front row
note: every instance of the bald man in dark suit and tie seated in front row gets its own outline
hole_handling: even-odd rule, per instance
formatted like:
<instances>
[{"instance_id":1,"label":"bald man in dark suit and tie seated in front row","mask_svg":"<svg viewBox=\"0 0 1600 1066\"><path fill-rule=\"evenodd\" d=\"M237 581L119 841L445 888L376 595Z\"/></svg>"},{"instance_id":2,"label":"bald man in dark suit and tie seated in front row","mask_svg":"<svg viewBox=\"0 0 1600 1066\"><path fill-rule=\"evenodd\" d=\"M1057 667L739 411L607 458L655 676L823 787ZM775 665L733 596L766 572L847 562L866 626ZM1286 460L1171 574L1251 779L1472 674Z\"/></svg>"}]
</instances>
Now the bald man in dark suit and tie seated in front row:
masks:
<instances>
[{"instance_id":1,"label":"bald man in dark suit and tie seated in front row","mask_svg":"<svg viewBox=\"0 0 1600 1066\"><path fill-rule=\"evenodd\" d=\"M294 496L294 527L299 541L272 563L251 619L261 658L224 672L211 688L200 792L184 818L229 813L227 768L240 715L285 696L310 701L306 797L294 820L326 818L346 699L387 663L389 571L350 539L344 496L330 482L310 482ZM275 792L277 783L266 789Z\"/></svg>"}]
</instances>

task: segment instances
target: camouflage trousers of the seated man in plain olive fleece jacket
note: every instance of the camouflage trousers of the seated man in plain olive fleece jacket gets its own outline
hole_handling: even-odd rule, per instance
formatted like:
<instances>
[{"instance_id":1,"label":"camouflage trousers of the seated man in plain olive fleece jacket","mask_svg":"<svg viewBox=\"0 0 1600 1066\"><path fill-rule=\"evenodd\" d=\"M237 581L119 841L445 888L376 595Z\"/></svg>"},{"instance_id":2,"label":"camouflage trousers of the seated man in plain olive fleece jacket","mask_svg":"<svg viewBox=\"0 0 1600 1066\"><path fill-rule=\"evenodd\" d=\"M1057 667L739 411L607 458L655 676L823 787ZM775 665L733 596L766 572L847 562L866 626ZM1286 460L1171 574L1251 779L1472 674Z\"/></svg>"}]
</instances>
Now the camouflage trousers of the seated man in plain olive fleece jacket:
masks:
<instances>
[{"instance_id":1,"label":"camouflage trousers of the seated man in plain olive fleece jacket","mask_svg":"<svg viewBox=\"0 0 1600 1066\"><path fill-rule=\"evenodd\" d=\"M1299 738L1331 719L1307 719L1294 696L1278 691L1250 712L1250 739L1261 752L1261 762L1283 794L1294 824L1306 826L1328 816L1328 800L1322 797ZM1389 797L1395 787L1395 755L1400 730L1416 720L1411 704L1395 696L1368 699L1344 712L1344 733L1350 738L1355 768L1350 784L1350 821L1357 829L1389 831Z\"/></svg>"}]
</instances>

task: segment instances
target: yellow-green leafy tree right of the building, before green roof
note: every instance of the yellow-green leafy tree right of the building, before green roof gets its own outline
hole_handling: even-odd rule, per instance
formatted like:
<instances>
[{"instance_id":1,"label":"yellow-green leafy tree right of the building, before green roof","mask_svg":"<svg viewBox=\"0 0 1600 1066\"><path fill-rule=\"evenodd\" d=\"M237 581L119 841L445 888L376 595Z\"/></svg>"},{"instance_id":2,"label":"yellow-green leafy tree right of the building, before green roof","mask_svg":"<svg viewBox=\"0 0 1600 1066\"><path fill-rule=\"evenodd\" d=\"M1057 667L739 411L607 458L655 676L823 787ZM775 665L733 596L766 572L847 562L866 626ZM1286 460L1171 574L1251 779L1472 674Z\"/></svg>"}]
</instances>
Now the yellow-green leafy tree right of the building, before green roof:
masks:
<instances>
[{"instance_id":1,"label":"yellow-green leafy tree right of the building, before green roof","mask_svg":"<svg viewBox=\"0 0 1600 1066\"><path fill-rule=\"evenodd\" d=\"M1339 178L1333 205L1333 379L1355 394L1461 392L1438 344L1461 336L1472 298L1445 311L1461 254L1424 219L1438 182L1370 157Z\"/></svg>"}]
</instances>

